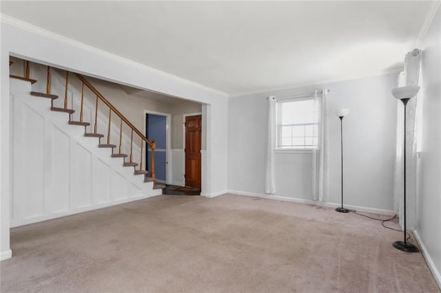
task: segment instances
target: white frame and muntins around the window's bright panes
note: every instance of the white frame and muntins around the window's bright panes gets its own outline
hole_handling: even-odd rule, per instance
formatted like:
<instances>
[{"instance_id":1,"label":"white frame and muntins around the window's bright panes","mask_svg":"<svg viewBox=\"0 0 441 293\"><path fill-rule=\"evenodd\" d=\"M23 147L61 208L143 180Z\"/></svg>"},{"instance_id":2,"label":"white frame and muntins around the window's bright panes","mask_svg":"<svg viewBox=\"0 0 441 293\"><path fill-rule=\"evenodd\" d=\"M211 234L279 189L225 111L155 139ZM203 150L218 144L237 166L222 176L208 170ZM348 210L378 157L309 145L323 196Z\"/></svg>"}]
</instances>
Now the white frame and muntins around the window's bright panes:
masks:
<instances>
[{"instance_id":1,"label":"white frame and muntins around the window's bright panes","mask_svg":"<svg viewBox=\"0 0 441 293\"><path fill-rule=\"evenodd\" d=\"M319 131L318 131L318 127L319 127L319 122L318 120L316 122L313 123L299 123L299 124L289 124L289 126L294 126L294 125L298 125L298 126L307 126L307 125L315 125L317 127L317 134L313 136L313 138L316 138L316 144L315 147L314 146L305 146L304 148L295 148L295 147L291 147L291 148L282 148L280 146L282 146L282 135L280 134L280 132L282 131L282 127L284 124L280 123L280 119L281 119L281 111L282 111L282 107L281 104L285 104L285 103L289 103L289 102L300 102L302 100L313 100L316 97L311 95L311 96L302 96L302 97L293 97L293 98L282 98L277 100L276 102L276 107L275 107L275 112L274 113L274 117L275 117L275 148L274 148L274 152L275 153L311 153L312 151L319 149ZM318 111L319 113L320 111ZM318 115L317 113L317 115ZM287 124L288 125L288 124ZM303 138L306 138L306 135L303 136Z\"/></svg>"}]
</instances>

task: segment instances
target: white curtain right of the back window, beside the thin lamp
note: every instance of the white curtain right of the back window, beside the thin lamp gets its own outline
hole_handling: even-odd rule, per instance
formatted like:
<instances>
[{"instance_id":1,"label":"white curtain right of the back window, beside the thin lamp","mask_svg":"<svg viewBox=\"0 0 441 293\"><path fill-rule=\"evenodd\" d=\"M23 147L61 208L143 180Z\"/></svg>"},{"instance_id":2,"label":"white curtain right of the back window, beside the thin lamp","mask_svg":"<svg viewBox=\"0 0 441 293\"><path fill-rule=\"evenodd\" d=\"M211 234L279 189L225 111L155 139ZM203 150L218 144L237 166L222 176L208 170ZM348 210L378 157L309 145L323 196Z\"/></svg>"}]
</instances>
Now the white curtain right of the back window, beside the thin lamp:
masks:
<instances>
[{"instance_id":1,"label":"white curtain right of the back window, beside the thin lamp","mask_svg":"<svg viewBox=\"0 0 441 293\"><path fill-rule=\"evenodd\" d=\"M318 148L312 150L312 194L314 200L326 202L329 198L329 131L327 126L327 89L316 91L314 111L318 120Z\"/></svg>"}]
</instances>

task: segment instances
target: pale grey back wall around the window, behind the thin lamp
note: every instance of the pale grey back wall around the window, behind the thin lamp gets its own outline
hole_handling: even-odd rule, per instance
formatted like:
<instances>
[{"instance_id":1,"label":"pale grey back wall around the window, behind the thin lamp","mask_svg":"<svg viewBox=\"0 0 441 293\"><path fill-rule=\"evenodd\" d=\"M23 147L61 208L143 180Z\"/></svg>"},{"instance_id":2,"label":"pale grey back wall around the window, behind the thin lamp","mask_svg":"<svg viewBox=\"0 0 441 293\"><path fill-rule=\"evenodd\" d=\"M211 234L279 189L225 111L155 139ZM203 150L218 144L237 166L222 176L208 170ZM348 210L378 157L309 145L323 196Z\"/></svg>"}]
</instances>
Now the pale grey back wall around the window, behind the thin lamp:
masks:
<instances>
[{"instance_id":1,"label":"pale grey back wall around the window, behind the thin lamp","mask_svg":"<svg viewBox=\"0 0 441 293\"><path fill-rule=\"evenodd\" d=\"M351 109L343 120L345 148L345 205L378 213L393 210L393 160L397 100L391 89L396 74L339 83L238 96L229 101L228 184L231 191L264 194L267 96L292 96L324 87L328 95L329 202L339 204L340 120L334 111ZM311 153L276 153L274 197L312 200Z\"/></svg>"}]
</instances>

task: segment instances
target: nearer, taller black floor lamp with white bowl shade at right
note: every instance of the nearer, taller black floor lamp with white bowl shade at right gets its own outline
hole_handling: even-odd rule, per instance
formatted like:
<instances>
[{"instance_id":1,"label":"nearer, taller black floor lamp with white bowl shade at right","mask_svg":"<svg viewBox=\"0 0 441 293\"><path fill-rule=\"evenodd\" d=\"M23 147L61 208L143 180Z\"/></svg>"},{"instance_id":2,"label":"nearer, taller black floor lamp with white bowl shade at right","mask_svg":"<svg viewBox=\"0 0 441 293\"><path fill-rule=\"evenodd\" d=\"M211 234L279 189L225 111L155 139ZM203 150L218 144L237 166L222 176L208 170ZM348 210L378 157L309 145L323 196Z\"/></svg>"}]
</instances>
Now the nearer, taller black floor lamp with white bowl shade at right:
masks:
<instances>
[{"instance_id":1,"label":"nearer, taller black floor lamp with white bowl shade at right","mask_svg":"<svg viewBox=\"0 0 441 293\"><path fill-rule=\"evenodd\" d=\"M393 242L393 247L397 248L399 250L403 250L406 252L418 252L418 247L414 246L412 243L407 242L406 239L406 105L407 102L416 94L418 94L418 91L420 90L420 87L416 85L410 85L407 87L397 87L396 89L392 89L392 95L395 98L398 98L398 100L401 100L402 104L404 105L404 144L403 144L403 150L404 150L404 160L403 160L403 173L404 173L404 241L395 241Z\"/></svg>"}]
</instances>

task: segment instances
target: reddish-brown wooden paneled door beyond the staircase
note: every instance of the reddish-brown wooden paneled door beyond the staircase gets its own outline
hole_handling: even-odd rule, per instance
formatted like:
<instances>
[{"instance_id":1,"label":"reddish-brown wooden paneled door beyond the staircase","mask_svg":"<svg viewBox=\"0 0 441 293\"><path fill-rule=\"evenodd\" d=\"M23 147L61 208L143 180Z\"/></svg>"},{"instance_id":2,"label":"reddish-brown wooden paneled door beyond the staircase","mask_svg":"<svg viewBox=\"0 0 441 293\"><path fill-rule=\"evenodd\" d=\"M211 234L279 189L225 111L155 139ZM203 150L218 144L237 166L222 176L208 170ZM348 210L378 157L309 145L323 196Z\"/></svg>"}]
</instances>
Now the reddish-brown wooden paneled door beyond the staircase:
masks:
<instances>
[{"instance_id":1,"label":"reddish-brown wooden paneled door beyond the staircase","mask_svg":"<svg viewBox=\"0 0 441 293\"><path fill-rule=\"evenodd\" d=\"M185 117L185 186L201 188L202 116Z\"/></svg>"}]
</instances>

